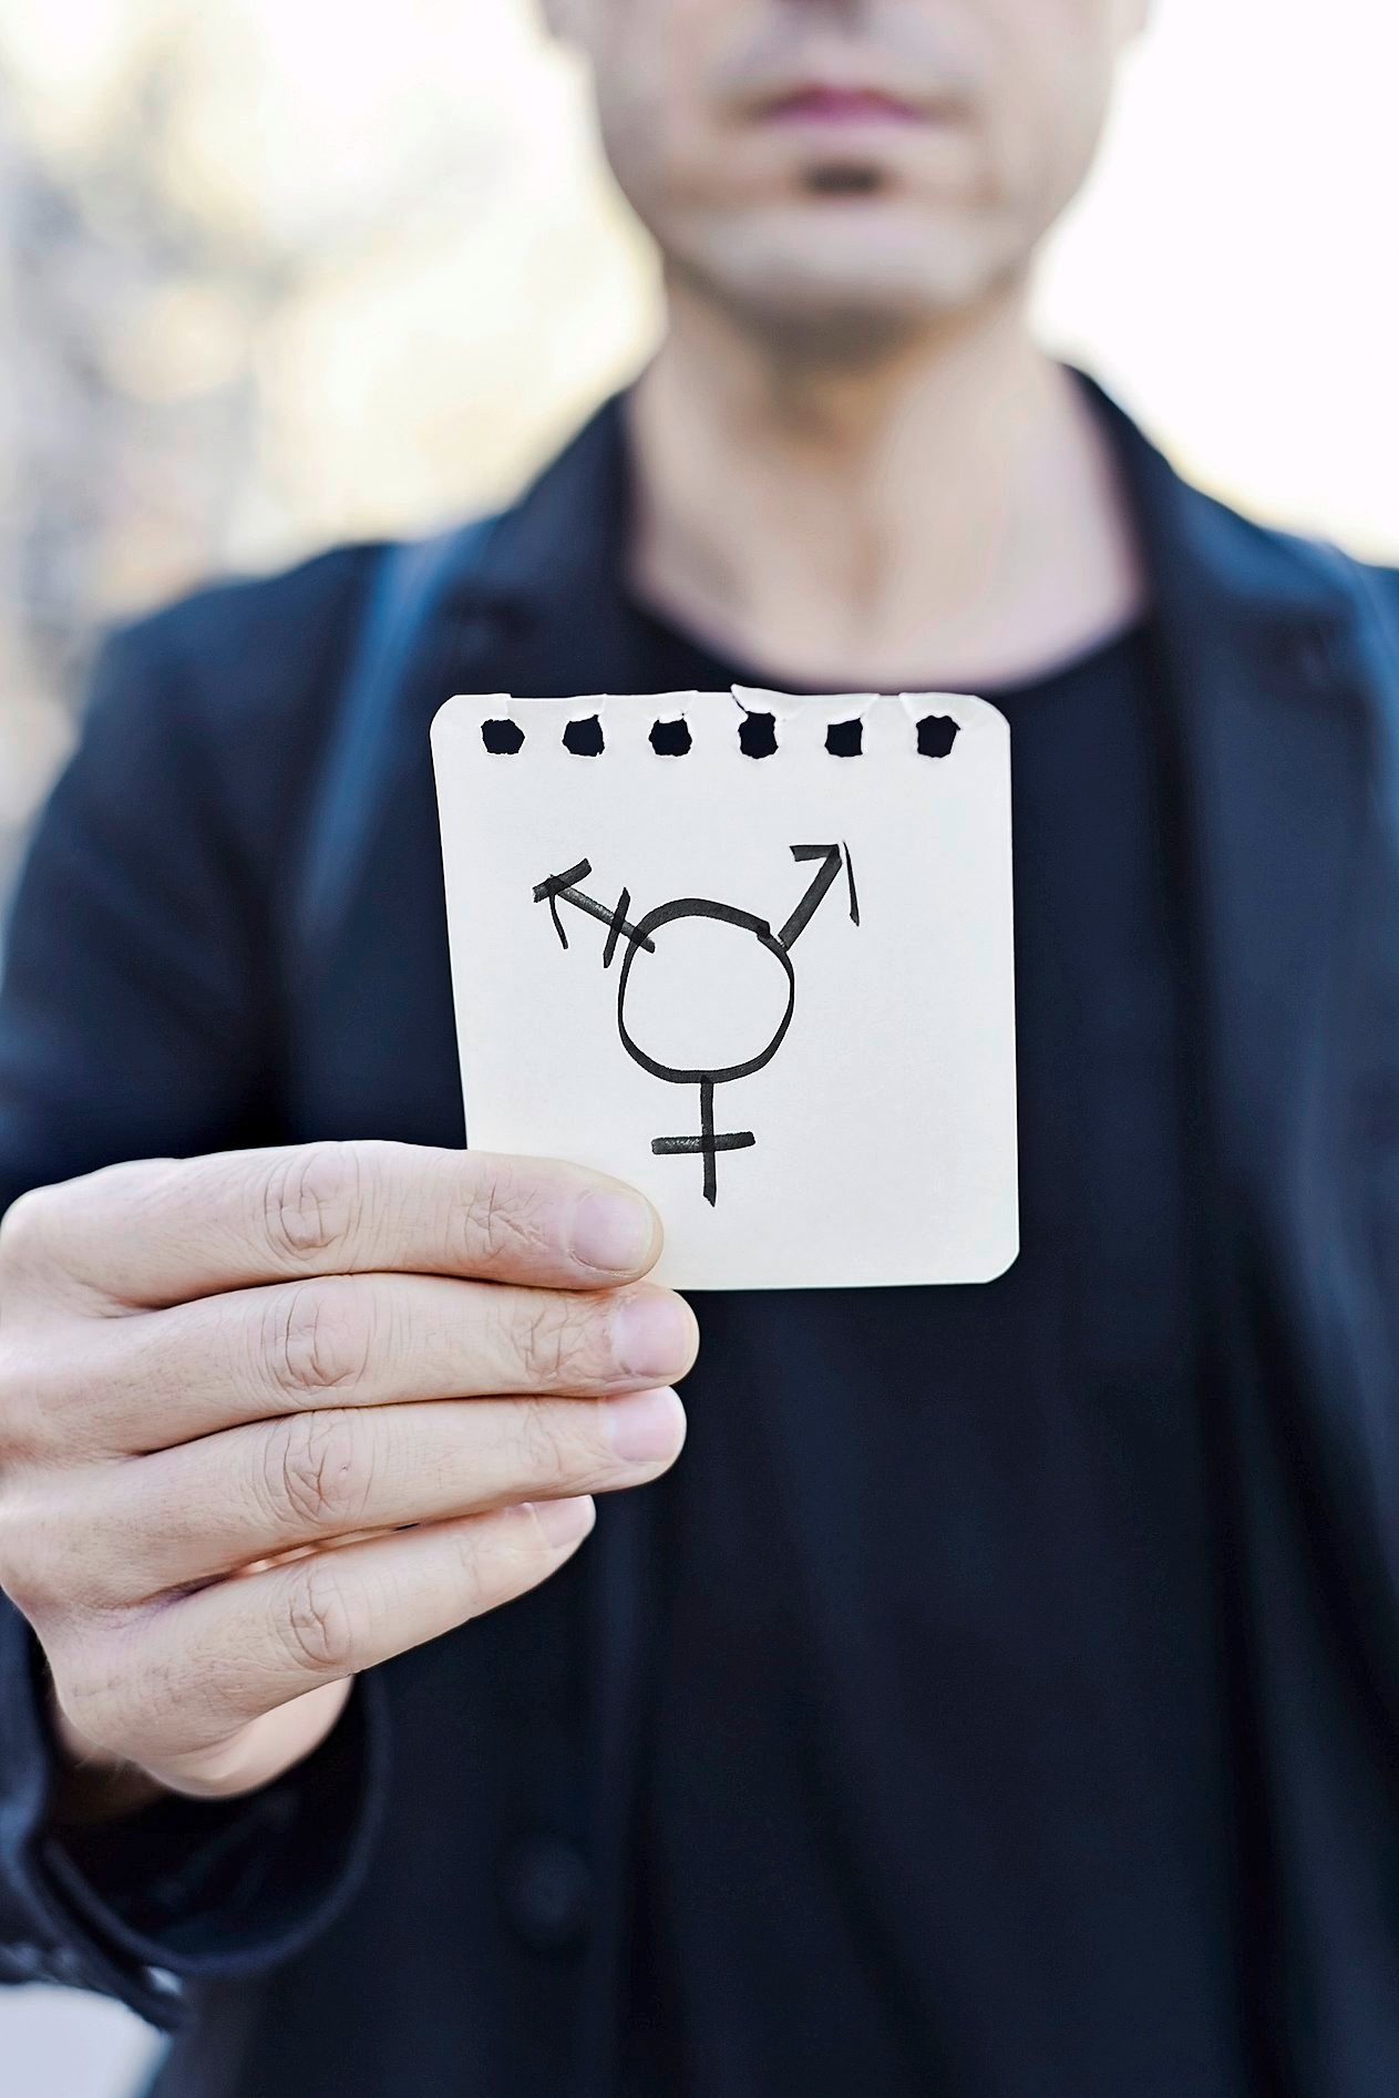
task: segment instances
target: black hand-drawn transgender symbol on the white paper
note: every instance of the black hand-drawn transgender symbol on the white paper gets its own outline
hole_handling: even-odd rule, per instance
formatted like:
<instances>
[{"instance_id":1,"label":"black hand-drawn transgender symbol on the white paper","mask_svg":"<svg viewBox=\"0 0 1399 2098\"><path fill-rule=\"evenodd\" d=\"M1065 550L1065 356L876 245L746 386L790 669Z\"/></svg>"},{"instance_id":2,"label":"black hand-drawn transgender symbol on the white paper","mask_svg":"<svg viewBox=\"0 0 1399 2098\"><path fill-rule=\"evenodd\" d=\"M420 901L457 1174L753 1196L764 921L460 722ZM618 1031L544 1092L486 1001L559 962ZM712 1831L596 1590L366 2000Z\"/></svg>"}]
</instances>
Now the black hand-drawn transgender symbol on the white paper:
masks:
<instances>
[{"instance_id":1,"label":"black hand-drawn transgender symbol on the white paper","mask_svg":"<svg viewBox=\"0 0 1399 2098\"><path fill-rule=\"evenodd\" d=\"M772 1057L782 1047L787 1030L793 1020L797 1005L797 978L791 963L791 948L797 944L812 917L820 908L826 892L831 890L841 866L845 869L845 887L849 894L849 921L860 923L860 902L856 898L856 875L849 864L849 852L845 845L793 845L791 856L797 862L820 860L820 866L810 881L801 902L787 919L780 932L774 934L768 919L755 917L751 911L736 911L732 904L707 902L701 896L682 896L677 902L661 904L657 911L648 911L640 923L627 923L627 911L631 908L631 892L623 890L617 898L617 908L608 911L606 904L596 902L579 890L579 881L587 881L591 875L591 862L579 860L577 866L564 869L562 875L550 875L547 881L537 883L535 902L550 906L550 917L554 919L554 932L560 944L568 946L568 934L564 932L564 921L558 915L560 902L573 904L575 911L583 911L587 917L598 919L606 925L606 944L602 948L602 967L612 967L612 957L621 940L627 942L627 950L621 963L621 976L617 980L617 1032L621 1045L633 1064L648 1070L652 1078L665 1078L667 1085L698 1085L701 1112L698 1112L698 1135L694 1137L652 1137L652 1152L661 1158L675 1156L701 1156L705 1160L705 1200L713 1204L717 1200L717 1154L719 1152L747 1152L757 1139L751 1129L730 1129L715 1131L713 1127L713 1089L715 1085L732 1085L734 1078L751 1078L755 1070L770 1064ZM759 948L776 961L787 978L787 1001L782 1015L772 1030L768 1043L751 1057L740 1064L726 1064L719 1070L705 1068L677 1068L673 1064L661 1064L657 1057L648 1055L627 1028L627 988L631 984L631 967L638 955L657 952L657 934L667 925L677 925L682 919L717 919L722 925L734 925L736 932L749 934L757 940Z\"/></svg>"}]
</instances>

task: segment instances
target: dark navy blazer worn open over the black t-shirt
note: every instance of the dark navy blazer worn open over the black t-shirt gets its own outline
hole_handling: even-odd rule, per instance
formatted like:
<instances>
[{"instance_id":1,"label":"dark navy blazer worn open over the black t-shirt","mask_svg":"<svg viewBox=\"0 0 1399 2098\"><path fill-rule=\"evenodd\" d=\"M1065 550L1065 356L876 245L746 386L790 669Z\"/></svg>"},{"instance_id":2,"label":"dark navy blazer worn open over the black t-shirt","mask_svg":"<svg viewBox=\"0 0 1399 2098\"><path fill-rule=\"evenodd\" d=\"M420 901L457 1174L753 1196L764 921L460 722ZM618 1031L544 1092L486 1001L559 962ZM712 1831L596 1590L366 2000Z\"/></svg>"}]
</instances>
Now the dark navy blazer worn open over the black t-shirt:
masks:
<instances>
[{"instance_id":1,"label":"dark navy blazer worn open over the black t-shirt","mask_svg":"<svg viewBox=\"0 0 1399 2098\"><path fill-rule=\"evenodd\" d=\"M1267 1748L1240 1802L1250 1960L1277 2088L1378 2098L1399 1957L1353 1949L1399 1934L1399 579L1233 516L1099 409L1164 650L1214 1160L1191 1202L1235 1366L1219 1477ZM631 688L598 611L623 520L612 405L461 541L405 638L329 890L308 837L382 550L109 644L13 921L0 1206L130 1156L461 1139L428 720L453 690ZM606 2090L644 1498L539 1594L363 1680L260 1798L67 1848L34 1643L0 1601L0 1978L172 2029L159 2088L182 2098Z\"/></svg>"}]
</instances>

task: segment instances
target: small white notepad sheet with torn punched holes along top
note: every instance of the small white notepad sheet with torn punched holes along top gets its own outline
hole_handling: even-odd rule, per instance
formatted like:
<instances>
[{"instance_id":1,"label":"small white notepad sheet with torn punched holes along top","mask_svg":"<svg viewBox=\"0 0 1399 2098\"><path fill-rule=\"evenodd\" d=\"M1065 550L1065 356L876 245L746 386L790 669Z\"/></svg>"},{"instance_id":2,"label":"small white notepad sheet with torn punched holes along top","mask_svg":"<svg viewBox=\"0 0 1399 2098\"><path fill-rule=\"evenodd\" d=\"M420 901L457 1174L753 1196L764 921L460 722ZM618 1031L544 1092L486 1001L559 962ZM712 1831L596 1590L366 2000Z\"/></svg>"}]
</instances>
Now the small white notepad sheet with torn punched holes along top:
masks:
<instances>
[{"instance_id":1,"label":"small white notepad sheet with torn punched holes along top","mask_svg":"<svg viewBox=\"0 0 1399 2098\"><path fill-rule=\"evenodd\" d=\"M459 697L432 747L468 1143L642 1187L677 1288L1009 1267L994 707Z\"/></svg>"}]
</instances>

